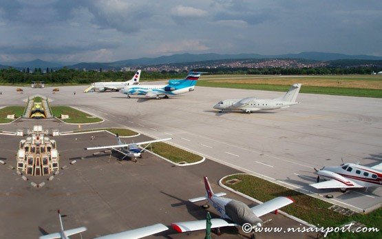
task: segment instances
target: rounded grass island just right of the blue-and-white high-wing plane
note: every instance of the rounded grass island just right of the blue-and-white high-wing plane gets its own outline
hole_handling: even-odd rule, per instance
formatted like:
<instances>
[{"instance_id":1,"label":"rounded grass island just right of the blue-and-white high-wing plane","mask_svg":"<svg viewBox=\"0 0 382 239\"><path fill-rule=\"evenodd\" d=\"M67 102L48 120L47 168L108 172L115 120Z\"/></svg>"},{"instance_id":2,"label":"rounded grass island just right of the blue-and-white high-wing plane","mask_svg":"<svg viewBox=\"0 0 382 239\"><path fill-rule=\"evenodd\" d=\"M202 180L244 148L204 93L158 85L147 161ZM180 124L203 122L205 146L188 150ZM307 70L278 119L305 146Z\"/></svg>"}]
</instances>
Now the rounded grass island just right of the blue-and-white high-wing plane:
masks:
<instances>
[{"instance_id":1,"label":"rounded grass island just right of the blue-and-white high-wing plane","mask_svg":"<svg viewBox=\"0 0 382 239\"><path fill-rule=\"evenodd\" d=\"M159 154L160 156L167 158L174 163L187 162L187 163L195 163L202 160L202 156L197 154L193 154L184 149L180 149L173 145L169 145L168 143L158 142L152 143L151 147L147 147L153 153Z\"/></svg>"}]
</instances>

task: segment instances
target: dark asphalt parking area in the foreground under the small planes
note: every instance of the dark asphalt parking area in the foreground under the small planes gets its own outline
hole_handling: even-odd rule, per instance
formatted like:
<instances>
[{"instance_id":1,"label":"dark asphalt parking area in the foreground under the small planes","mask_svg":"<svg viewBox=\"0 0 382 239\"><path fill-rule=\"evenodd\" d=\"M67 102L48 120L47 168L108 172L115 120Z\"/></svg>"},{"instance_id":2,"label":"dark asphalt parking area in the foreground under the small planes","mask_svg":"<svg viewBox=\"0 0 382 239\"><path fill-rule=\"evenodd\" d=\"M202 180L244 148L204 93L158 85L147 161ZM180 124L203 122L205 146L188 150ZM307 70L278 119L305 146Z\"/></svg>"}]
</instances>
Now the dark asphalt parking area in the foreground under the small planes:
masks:
<instances>
[{"instance_id":1,"label":"dark asphalt parking area in the foreground under the small planes","mask_svg":"<svg viewBox=\"0 0 382 239\"><path fill-rule=\"evenodd\" d=\"M87 146L113 144L111 134L90 133L54 137L61 154L60 174L48 181L48 176L21 179L8 165L14 165L15 149L20 137L0 135L1 157L7 165L0 165L0 238L38 238L43 233L59 230L56 210L66 215L66 229L85 226L83 238L94 238L109 233L125 231L161 222L200 220L206 211L202 202L193 204L188 198L202 196L202 176L208 175L215 191L226 191L217 181L239 171L212 160L200 165L175 167L149 153L134 163L118 160L119 154L93 156L85 151ZM146 136L126 138L127 142L142 141ZM81 159L83 157L83 159ZM70 165L72 160L77 162ZM45 182L41 188L33 188L30 182ZM226 191L228 196L251 201ZM217 217L211 207L211 216ZM267 214L264 220L272 219L267 227L301 227L299 222L282 215ZM222 229L219 238L248 238L235 228ZM204 231L177 233L173 229L149 238L202 238ZM303 233L259 233L257 238L306 238ZM314 235L310 235L314 236ZM80 238L72 236L71 238Z\"/></svg>"}]
</instances>

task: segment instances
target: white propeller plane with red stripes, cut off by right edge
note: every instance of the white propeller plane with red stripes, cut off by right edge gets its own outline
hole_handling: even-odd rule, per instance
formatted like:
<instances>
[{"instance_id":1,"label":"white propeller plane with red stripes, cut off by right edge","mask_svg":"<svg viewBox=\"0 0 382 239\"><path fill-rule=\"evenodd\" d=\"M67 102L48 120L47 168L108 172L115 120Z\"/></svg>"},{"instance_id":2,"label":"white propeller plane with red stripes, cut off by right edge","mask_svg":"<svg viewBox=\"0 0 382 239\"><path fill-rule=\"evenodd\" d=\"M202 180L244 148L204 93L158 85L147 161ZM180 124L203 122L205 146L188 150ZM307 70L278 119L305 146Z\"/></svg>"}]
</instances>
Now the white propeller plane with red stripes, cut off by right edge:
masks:
<instances>
[{"instance_id":1,"label":"white propeller plane with red stripes, cut off by right edge","mask_svg":"<svg viewBox=\"0 0 382 239\"><path fill-rule=\"evenodd\" d=\"M339 188L342 192L350 188L377 187L382 185L382 163L373 167L366 167L355 163L340 166L315 169L317 183L310 186L317 189ZM328 180L319 183L319 177Z\"/></svg>"}]
</instances>

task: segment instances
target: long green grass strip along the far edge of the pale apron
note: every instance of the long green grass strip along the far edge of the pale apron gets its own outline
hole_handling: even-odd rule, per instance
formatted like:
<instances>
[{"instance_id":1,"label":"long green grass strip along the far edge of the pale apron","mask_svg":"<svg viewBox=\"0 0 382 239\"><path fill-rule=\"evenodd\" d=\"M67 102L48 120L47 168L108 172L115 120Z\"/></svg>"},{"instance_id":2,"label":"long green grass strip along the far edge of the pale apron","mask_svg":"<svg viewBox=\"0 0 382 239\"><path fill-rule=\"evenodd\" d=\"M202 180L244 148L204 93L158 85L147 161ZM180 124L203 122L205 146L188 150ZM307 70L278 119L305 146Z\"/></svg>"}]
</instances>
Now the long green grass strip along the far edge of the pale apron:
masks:
<instances>
[{"instance_id":1,"label":"long green grass strip along the far edge of the pale apron","mask_svg":"<svg viewBox=\"0 0 382 239\"><path fill-rule=\"evenodd\" d=\"M270 91L277 91L277 92L286 92L290 88L290 85L223 83L223 82L216 82L216 81L213 82L209 80L200 81L198 83L198 86L222 87L222 88L245 89L245 90L270 90ZM339 96L382 98L382 90L363 89L363 88L321 87L321 86L302 85L300 92L309 93L309 94L331 94L331 95L339 95Z\"/></svg>"}]
</instances>

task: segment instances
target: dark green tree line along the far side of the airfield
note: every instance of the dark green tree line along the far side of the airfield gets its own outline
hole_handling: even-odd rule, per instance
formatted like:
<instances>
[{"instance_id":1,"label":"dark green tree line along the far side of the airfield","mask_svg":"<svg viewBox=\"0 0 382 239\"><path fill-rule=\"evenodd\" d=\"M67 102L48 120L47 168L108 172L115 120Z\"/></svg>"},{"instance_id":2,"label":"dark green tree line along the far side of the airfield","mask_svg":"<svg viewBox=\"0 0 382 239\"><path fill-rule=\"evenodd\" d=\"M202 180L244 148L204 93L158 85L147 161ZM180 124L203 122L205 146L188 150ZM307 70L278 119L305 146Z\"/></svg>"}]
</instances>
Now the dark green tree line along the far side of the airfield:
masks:
<instances>
[{"instance_id":1,"label":"dark green tree line along the far side of the airfield","mask_svg":"<svg viewBox=\"0 0 382 239\"><path fill-rule=\"evenodd\" d=\"M374 67L317 67L317 68L214 68L214 69L194 69L195 71L209 72L210 74L372 74L381 69ZM45 83L61 84L89 84L97 81L128 81L135 72L112 72L112 71L87 71L62 68L53 71L47 68L42 71L35 68L32 73L29 69L16 70L12 67L0 70L0 83L32 83L32 81L44 81ZM187 71L176 72L174 70L162 72L142 72L140 80L151 79L182 79L187 75Z\"/></svg>"}]
</instances>

